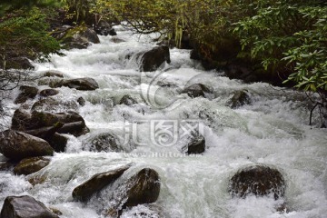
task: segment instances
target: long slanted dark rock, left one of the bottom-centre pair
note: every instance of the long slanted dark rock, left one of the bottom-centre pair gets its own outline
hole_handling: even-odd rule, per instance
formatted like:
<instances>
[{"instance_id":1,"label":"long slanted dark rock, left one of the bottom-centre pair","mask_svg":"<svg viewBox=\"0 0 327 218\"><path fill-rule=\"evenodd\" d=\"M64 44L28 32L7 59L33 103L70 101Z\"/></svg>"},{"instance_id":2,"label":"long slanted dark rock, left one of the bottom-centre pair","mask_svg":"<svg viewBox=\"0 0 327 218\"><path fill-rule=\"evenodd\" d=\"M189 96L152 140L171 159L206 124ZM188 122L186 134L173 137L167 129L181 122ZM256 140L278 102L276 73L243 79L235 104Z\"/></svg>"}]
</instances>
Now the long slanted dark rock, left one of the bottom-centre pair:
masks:
<instances>
[{"instance_id":1,"label":"long slanted dark rock, left one of the bottom-centre pair","mask_svg":"<svg viewBox=\"0 0 327 218\"><path fill-rule=\"evenodd\" d=\"M101 191L108 184L114 183L129 168L130 165L126 165L108 172L94 174L91 179L74 188L74 200L87 201L94 193Z\"/></svg>"}]
</instances>

